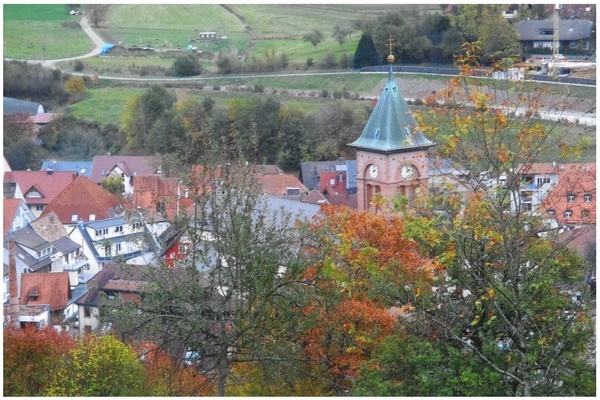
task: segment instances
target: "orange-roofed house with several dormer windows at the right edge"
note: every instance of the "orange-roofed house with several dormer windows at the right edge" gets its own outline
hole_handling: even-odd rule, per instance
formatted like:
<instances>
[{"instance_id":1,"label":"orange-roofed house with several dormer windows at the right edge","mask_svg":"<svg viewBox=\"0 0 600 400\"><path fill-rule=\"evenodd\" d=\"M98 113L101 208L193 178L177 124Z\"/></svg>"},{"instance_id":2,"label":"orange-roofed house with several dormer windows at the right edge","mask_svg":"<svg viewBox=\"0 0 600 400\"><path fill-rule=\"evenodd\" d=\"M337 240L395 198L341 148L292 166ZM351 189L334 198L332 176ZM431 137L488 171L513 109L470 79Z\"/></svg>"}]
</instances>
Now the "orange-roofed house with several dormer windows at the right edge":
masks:
<instances>
[{"instance_id":1,"label":"orange-roofed house with several dormer windows at the right edge","mask_svg":"<svg viewBox=\"0 0 600 400\"><path fill-rule=\"evenodd\" d=\"M559 166L558 183L544 199L542 209L560 226L595 225L596 164Z\"/></svg>"}]
</instances>

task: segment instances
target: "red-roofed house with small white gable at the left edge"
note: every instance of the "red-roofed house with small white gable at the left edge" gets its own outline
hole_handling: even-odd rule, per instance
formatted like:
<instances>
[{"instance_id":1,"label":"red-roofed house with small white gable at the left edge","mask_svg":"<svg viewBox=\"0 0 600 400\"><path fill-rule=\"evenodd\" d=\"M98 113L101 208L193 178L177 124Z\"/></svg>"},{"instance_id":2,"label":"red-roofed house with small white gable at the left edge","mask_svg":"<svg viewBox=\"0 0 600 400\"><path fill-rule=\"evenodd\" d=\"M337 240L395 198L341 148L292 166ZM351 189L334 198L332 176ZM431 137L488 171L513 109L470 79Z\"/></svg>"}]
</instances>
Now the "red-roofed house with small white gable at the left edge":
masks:
<instances>
[{"instance_id":1,"label":"red-roofed house with small white gable at the left edge","mask_svg":"<svg viewBox=\"0 0 600 400\"><path fill-rule=\"evenodd\" d=\"M37 218L77 174L68 171L10 171L4 173L4 183L16 183L25 203Z\"/></svg>"}]
</instances>

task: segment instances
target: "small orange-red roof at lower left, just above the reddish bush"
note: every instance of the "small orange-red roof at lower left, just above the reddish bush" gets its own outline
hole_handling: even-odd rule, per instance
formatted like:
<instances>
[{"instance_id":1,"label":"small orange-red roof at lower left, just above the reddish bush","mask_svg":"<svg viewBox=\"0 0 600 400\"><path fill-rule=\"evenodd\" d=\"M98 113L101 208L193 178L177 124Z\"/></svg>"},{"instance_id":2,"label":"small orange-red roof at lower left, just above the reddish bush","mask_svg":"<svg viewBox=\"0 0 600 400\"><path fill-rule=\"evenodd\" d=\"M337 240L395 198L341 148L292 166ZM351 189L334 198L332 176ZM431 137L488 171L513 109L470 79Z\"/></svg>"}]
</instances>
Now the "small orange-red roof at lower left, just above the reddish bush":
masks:
<instances>
[{"instance_id":1,"label":"small orange-red roof at lower left, just above the reddish bush","mask_svg":"<svg viewBox=\"0 0 600 400\"><path fill-rule=\"evenodd\" d=\"M21 275L21 305L50 304L55 311L67 308L70 298L68 272Z\"/></svg>"}]
</instances>

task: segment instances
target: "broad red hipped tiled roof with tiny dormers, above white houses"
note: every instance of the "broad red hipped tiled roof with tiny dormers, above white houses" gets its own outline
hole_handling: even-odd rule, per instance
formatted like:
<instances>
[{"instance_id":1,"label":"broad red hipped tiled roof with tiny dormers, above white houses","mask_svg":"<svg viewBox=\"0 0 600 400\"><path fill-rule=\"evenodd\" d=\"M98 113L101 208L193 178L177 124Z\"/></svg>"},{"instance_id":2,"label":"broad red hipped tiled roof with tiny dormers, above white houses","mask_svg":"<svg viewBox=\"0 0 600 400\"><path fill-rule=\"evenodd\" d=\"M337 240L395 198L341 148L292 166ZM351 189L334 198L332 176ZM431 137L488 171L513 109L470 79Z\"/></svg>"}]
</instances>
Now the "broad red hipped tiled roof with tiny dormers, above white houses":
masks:
<instances>
[{"instance_id":1,"label":"broad red hipped tiled roof with tiny dormers, above white houses","mask_svg":"<svg viewBox=\"0 0 600 400\"><path fill-rule=\"evenodd\" d=\"M90 215L95 216L93 220L112 218L120 214L120 208L131 208L131 204L82 175L56 196L42 215L55 212L63 224L73 224L89 222ZM77 220L73 221L73 216Z\"/></svg>"}]
</instances>

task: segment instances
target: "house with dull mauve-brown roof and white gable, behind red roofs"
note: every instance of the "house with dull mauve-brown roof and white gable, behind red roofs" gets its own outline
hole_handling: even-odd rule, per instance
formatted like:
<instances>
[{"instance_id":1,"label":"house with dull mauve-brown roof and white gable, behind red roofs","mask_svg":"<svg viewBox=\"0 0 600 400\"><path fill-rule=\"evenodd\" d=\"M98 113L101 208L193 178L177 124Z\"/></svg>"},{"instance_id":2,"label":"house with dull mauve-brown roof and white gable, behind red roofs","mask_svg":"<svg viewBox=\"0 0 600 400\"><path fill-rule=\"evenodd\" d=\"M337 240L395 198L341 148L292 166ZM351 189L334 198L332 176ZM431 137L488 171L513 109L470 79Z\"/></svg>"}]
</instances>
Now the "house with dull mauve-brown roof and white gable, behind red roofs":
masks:
<instances>
[{"instance_id":1,"label":"house with dull mauve-brown roof and white gable, behind red roofs","mask_svg":"<svg viewBox=\"0 0 600 400\"><path fill-rule=\"evenodd\" d=\"M133 182L137 175L158 174L157 160L145 156L95 156L90 179L100 184L105 178L119 177L123 180L123 195L133 194Z\"/></svg>"}]
</instances>

